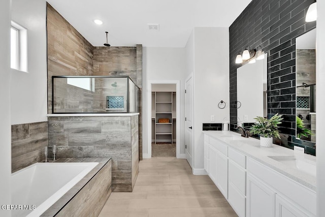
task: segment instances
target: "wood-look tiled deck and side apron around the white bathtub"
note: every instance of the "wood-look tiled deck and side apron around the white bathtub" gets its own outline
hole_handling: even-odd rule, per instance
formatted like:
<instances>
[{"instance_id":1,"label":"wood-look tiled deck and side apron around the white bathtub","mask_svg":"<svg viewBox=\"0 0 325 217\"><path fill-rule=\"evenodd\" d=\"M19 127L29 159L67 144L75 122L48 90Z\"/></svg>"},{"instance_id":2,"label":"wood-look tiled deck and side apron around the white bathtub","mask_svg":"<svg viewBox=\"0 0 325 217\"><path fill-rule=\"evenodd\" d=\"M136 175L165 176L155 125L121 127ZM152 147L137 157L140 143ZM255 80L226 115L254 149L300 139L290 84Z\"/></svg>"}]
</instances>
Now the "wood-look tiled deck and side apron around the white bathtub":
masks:
<instances>
[{"instance_id":1,"label":"wood-look tiled deck and side apron around the white bathtub","mask_svg":"<svg viewBox=\"0 0 325 217\"><path fill-rule=\"evenodd\" d=\"M112 160L111 158L68 158L50 161L50 163L77 162L99 164L41 216L98 216L112 192Z\"/></svg>"}]
</instances>

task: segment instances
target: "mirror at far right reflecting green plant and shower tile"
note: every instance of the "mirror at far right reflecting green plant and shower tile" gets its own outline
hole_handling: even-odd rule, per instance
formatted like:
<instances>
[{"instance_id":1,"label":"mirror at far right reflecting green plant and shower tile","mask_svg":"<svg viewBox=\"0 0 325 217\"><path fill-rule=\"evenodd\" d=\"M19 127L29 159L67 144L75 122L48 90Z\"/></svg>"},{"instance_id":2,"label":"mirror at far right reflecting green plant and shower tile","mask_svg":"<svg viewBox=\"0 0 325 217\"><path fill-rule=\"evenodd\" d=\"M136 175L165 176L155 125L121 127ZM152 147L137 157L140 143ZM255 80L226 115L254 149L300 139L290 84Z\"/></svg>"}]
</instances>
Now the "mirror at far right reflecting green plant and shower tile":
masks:
<instances>
[{"instance_id":1,"label":"mirror at far right reflecting green plant and shower tile","mask_svg":"<svg viewBox=\"0 0 325 217\"><path fill-rule=\"evenodd\" d=\"M316 142L316 29L296 39L296 136ZM303 122L303 126L302 126Z\"/></svg>"}]
</instances>

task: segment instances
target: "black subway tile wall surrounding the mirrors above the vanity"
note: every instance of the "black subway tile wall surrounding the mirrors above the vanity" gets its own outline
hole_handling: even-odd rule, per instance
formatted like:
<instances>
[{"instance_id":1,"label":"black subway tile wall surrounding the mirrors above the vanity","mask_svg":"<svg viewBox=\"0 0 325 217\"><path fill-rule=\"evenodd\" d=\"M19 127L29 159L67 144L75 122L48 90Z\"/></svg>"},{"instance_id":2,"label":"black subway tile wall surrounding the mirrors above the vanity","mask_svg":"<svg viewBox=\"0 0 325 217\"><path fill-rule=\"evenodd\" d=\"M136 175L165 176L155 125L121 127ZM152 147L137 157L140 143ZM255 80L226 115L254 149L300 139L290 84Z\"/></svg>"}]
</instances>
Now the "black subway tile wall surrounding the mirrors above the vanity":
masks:
<instances>
[{"instance_id":1,"label":"black subway tile wall surrounding the mirrors above the vanity","mask_svg":"<svg viewBox=\"0 0 325 217\"><path fill-rule=\"evenodd\" d=\"M261 46L268 53L268 117L282 114L281 140L276 144L293 148L305 147L315 154L314 143L299 142L296 135L296 38L316 27L305 22L313 0L253 0L229 28L230 100L237 101L237 68L235 59L246 46ZM236 131L237 108L230 108L231 130Z\"/></svg>"}]
</instances>

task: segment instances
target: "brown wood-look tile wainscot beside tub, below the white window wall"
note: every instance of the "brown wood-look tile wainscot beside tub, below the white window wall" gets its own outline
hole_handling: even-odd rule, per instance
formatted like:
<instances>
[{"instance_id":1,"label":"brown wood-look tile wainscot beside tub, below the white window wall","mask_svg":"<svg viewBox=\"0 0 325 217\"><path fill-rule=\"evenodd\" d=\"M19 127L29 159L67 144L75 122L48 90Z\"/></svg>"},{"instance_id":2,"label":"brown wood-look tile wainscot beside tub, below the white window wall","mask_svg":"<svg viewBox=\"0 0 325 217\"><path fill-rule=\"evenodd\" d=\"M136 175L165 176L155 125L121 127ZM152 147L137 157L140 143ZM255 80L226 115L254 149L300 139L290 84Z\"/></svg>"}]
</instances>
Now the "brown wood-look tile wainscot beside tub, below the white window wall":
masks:
<instances>
[{"instance_id":1,"label":"brown wood-look tile wainscot beside tub, below the white window wall","mask_svg":"<svg viewBox=\"0 0 325 217\"><path fill-rule=\"evenodd\" d=\"M45 160L48 123L35 122L11 126L11 172Z\"/></svg>"}]
</instances>

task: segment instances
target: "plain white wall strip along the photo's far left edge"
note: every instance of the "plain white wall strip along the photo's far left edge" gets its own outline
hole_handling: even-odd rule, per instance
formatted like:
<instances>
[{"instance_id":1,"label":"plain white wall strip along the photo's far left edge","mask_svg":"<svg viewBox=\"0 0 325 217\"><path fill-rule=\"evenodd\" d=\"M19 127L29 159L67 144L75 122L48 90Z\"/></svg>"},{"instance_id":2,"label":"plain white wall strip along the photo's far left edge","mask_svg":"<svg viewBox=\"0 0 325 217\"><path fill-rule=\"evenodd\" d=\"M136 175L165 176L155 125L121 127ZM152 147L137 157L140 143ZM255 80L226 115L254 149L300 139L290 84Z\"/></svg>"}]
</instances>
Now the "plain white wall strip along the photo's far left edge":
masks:
<instances>
[{"instance_id":1,"label":"plain white wall strip along the photo's far left edge","mask_svg":"<svg viewBox=\"0 0 325 217\"><path fill-rule=\"evenodd\" d=\"M0 205L11 204L10 2L0 1ZM0 209L0 216L10 212Z\"/></svg>"}]
</instances>

